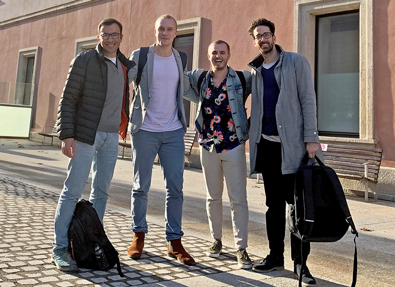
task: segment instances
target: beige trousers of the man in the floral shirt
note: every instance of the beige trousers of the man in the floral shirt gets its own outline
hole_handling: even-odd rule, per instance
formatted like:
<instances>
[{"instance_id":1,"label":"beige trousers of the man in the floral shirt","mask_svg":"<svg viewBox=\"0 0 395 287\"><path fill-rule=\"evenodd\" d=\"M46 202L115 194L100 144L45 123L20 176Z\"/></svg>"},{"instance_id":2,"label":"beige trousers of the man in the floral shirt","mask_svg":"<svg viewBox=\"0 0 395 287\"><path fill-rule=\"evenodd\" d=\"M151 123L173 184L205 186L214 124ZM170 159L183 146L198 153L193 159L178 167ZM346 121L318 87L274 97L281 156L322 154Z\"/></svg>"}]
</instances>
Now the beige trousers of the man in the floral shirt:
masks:
<instances>
[{"instance_id":1,"label":"beige trousers of the man in the floral shirt","mask_svg":"<svg viewBox=\"0 0 395 287\"><path fill-rule=\"evenodd\" d=\"M206 182L206 210L211 236L222 238L222 193L224 177L231 204L233 234L237 249L247 247L248 205L245 144L223 153L200 149L200 162Z\"/></svg>"}]
</instances>

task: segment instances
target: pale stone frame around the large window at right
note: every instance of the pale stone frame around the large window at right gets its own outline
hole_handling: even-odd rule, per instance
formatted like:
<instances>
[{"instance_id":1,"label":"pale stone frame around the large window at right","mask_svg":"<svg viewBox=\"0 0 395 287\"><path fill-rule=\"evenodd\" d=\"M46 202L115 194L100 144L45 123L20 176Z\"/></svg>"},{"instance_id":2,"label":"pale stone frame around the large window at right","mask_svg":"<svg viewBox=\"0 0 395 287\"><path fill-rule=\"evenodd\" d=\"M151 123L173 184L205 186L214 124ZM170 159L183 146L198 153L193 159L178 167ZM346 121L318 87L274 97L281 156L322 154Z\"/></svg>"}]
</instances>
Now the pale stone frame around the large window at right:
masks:
<instances>
[{"instance_id":1,"label":"pale stone frame around the large window at right","mask_svg":"<svg viewBox=\"0 0 395 287\"><path fill-rule=\"evenodd\" d=\"M376 144L373 89L373 1L295 0L294 51L307 57L315 71L316 16L359 10L359 138L320 136L320 140Z\"/></svg>"}]
</instances>

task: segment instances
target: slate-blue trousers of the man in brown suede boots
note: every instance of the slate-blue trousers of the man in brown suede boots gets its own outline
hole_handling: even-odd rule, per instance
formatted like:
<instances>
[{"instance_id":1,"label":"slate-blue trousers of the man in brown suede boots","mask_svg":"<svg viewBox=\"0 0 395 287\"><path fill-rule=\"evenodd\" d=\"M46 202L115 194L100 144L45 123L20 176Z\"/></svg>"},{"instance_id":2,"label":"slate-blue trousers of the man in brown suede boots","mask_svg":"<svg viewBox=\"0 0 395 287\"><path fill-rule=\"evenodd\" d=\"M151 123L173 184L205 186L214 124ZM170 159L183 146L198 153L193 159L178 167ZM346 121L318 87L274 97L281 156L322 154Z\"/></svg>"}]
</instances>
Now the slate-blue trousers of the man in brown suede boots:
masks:
<instances>
[{"instance_id":1,"label":"slate-blue trousers of the man in brown suede boots","mask_svg":"<svg viewBox=\"0 0 395 287\"><path fill-rule=\"evenodd\" d=\"M183 128L163 132L140 129L130 135L133 154L132 231L148 232L148 191L151 186L152 166L158 154L166 187L166 240L179 239L184 235L181 231L184 202L184 132Z\"/></svg>"}]
</instances>

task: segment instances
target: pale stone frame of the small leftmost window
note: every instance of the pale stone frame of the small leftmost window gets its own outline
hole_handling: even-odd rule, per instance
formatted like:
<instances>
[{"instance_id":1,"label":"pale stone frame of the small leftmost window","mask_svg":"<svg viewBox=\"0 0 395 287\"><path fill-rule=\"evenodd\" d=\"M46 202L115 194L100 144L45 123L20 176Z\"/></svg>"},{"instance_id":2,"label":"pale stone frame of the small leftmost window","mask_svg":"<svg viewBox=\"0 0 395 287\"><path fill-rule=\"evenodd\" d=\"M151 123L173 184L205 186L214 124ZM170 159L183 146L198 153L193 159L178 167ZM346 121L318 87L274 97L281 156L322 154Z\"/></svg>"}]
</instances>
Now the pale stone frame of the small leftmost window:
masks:
<instances>
[{"instance_id":1,"label":"pale stone frame of the small leftmost window","mask_svg":"<svg viewBox=\"0 0 395 287\"><path fill-rule=\"evenodd\" d=\"M34 57L34 67L33 67L33 78L32 78L32 92L30 96L30 104L27 105L28 107L31 107L33 105L33 100L35 98L35 92L36 92L36 71L37 71L37 63L38 63L38 58L39 58L39 46L36 47L31 47L31 48L25 48L25 49L20 49L19 50L19 57L18 57L18 66L16 70L16 81L17 83L20 82L25 82L26 79L26 65L27 65L27 59ZM16 98L21 96L21 93L23 91L20 89L15 90L14 94L14 101Z\"/></svg>"}]
</instances>

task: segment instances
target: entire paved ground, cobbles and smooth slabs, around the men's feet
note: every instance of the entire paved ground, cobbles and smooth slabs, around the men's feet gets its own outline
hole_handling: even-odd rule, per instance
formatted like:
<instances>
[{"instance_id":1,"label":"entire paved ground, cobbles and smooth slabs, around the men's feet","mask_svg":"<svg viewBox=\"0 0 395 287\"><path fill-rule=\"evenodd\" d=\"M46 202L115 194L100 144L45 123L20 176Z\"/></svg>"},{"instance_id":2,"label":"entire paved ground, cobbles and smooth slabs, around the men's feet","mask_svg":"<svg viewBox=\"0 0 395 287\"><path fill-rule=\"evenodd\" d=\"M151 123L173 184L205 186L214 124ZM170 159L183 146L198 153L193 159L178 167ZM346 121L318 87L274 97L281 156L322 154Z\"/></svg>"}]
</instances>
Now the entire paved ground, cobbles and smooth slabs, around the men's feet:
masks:
<instances>
[{"instance_id":1,"label":"entire paved ground, cobbles and smooth slabs, around the men's feet","mask_svg":"<svg viewBox=\"0 0 395 287\"><path fill-rule=\"evenodd\" d=\"M210 245L205 214L205 185L201 170L184 172L183 243L197 260L187 267L167 257L164 238L164 188L160 166L155 164L150 190L144 258L132 260L126 249L130 231L131 161L118 159L108 211L106 232L120 253L120 278L109 272L80 269L64 274L50 264L53 215L65 179L67 158L57 147L27 140L0 140L0 287L4 286L297 286L292 276L289 236L285 242L285 271L267 274L237 268L229 199L224 192L224 254L219 259L204 256ZM87 188L83 197L89 192ZM247 181L250 210L251 259L262 260L269 252L265 231L263 184ZM357 286L395 285L395 203L369 202L348 197L359 231ZM366 231L360 230L364 228ZM370 230L370 231L367 231ZM351 232L336 243L312 244L308 266L317 286L350 286L354 243Z\"/></svg>"}]
</instances>

